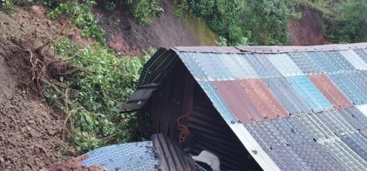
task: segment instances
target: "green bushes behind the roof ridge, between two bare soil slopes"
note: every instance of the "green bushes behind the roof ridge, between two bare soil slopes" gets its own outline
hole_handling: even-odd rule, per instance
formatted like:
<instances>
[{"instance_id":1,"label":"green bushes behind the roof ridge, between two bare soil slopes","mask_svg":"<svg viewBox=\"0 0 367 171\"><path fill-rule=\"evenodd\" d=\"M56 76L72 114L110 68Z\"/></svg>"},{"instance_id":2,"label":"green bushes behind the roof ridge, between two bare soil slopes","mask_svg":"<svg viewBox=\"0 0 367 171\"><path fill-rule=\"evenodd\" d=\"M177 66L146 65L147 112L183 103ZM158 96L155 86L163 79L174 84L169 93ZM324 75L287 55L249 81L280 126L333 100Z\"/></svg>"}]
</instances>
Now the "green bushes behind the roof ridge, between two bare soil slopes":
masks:
<instances>
[{"instance_id":1,"label":"green bushes behind the roof ridge, between two bare soil slopes","mask_svg":"<svg viewBox=\"0 0 367 171\"><path fill-rule=\"evenodd\" d=\"M228 39L229 45L285 44L288 20L300 18L287 0L181 0L175 1L179 17L183 9L208 19L211 29ZM181 11L181 12L180 12ZM244 42L244 40L246 40Z\"/></svg>"}]
</instances>

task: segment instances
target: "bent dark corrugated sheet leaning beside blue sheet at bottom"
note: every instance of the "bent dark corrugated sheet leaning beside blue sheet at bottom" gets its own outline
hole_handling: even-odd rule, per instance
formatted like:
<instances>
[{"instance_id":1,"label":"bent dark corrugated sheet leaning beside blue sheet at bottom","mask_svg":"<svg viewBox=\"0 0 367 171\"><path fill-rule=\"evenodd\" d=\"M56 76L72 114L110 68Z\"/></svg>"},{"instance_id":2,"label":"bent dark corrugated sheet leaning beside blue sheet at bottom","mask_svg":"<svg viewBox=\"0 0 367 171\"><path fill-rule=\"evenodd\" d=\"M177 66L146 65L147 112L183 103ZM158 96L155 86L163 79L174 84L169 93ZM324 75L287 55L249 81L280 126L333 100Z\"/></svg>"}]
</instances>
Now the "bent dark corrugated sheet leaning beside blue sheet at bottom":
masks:
<instances>
[{"instance_id":1,"label":"bent dark corrugated sheet leaning beside blue sheet at bottom","mask_svg":"<svg viewBox=\"0 0 367 171\"><path fill-rule=\"evenodd\" d=\"M152 142L161 171L199 171L191 156L163 134L154 134Z\"/></svg>"}]
</instances>

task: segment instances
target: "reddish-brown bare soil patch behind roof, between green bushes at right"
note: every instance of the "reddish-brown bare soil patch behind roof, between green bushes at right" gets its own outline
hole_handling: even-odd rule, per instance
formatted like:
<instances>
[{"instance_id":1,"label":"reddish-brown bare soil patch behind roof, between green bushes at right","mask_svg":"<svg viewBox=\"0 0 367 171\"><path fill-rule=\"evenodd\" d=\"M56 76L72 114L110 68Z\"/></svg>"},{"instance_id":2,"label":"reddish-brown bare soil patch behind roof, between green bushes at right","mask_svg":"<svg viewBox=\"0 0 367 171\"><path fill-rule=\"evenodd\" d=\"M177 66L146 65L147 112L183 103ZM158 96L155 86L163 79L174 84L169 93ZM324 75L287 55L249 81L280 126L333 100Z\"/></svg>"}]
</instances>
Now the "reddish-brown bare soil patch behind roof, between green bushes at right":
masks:
<instances>
[{"instance_id":1,"label":"reddish-brown bare soil patch behind roof, between green bushes at right","mask_svg":"<svg viewBox=\"0 0 367 171\"><path fill-rule=\"evenodd\" d=\"M292 19L289 29L292 39L290 45L328 44L322 30L322 13L311 7L300 6L296 11L302 13L300 20Z\"/></svg>"}]
</instances>

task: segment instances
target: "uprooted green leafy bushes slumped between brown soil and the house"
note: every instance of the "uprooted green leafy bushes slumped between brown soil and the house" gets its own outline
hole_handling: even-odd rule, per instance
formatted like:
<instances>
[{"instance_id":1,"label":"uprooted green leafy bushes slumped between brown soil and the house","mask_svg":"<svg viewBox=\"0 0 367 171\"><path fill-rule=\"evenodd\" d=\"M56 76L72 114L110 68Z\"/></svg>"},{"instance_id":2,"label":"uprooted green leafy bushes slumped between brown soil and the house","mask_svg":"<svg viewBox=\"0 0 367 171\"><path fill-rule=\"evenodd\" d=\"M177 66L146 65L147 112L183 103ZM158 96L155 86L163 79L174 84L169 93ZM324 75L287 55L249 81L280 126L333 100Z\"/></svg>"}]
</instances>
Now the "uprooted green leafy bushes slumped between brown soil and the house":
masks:
<instances>
[{"instance_id":1,"label":"uprooted green leafy bushes slumped between brown soil and the house","mask_svg":"<svg viewBox=\"0 0 367 171\"><path fill-rule=\"evenodd\" d=\"M137 116L119 114L117 109L134 91L149 56L115 56L98 43L80 47L69 39L60 40L54 48L64 61L79 68L45 88L48 104L67 114L69 132L65 134L72 135L77 150L133 140L141 127Z\"/></svg>"}]
</instances>

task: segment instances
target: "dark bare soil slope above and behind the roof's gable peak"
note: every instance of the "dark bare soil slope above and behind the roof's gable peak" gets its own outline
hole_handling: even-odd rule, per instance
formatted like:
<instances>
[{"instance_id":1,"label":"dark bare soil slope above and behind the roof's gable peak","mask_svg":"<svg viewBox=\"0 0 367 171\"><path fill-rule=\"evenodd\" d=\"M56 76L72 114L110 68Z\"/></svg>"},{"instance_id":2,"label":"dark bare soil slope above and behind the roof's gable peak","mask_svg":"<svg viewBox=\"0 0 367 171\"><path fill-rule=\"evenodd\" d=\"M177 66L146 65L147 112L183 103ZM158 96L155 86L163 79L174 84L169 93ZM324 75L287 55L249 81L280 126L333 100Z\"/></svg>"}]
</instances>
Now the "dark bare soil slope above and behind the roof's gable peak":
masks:
<instances>
[{"instance_id":1,"label":"dark bare soil slope above and behind the roof's gable peak","mask_svg":"<svg viewBox=\"0 0 367 171\"><path fill-rule=\"evenodd\" d=\"M153 47L196 46L199 44L186 28L185 18L176 18L175 5L172 0L160 0L164 13L159 19L153 19L151 24L140 26L126 6L118 6L114 13L104 9L103 2L94 13L99 18L100 25L106 31L107 44L117 52L125 55L141 56L141 50ZM206 38L207 39L207 38ZM211 40L214 43L214 38ZM215 45L215 44L206 45Z\"/></svg>"}]
</instances>

